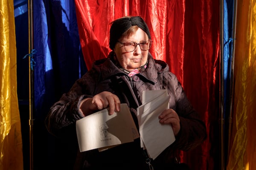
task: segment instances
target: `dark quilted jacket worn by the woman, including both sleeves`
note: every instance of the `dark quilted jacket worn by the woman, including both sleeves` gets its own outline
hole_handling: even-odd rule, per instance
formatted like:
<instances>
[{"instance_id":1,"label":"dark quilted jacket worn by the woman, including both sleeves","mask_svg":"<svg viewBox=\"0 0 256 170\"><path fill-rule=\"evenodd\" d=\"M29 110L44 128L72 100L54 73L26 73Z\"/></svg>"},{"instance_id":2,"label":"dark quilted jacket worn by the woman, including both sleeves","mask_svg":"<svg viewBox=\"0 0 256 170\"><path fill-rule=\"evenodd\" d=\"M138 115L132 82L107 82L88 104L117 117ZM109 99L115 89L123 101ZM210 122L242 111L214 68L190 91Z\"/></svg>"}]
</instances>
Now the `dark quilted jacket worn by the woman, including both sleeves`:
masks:
<instances>
[{"instance_id":1,"label":"dark quilted jacket worn by the woman, including both sleeves","mask_svg":"<svg viewBox=\"0 0 256 170\"><path fill-rule=\"evenodd\" d=\"M61 99L51 107L46 119L50 133L77 144L77 139L71 136L76 134L76 121L83 118L79 113L79 104L82 99L92 97L102 91L110 91L119 97L121 103L127 103L138 127L136 110L142 104L142 92L168 89L169 106L177 112L180 118L180 132L175 136L175 142L153 161L154 170L169 164L175 150L189 150L204 141L206 138L204 122L192 108L177 77L169 72L166 62L153 59L151 54L148 54L148 65L145 71L129 77L116 67L112 58L113 55L110 53L108 58L94 62L93 68L78 79L70 91L63 94ZM79 170L103 168L144 170L147 167L140 147L140 139L103 152L98 150L78 152L75 163L75 169Z\"/></svg>"}]
</instances>

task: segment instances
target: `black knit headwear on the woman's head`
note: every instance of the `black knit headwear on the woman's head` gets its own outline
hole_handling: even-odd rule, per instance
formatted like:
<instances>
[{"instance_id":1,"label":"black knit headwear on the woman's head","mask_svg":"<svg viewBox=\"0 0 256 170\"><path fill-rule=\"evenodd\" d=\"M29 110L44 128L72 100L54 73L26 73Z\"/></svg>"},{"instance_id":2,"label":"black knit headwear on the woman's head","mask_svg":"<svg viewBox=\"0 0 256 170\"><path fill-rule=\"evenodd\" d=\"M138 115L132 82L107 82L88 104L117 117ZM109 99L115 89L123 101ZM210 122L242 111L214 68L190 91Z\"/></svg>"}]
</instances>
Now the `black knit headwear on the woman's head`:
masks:
<instances>
[{"instance_id":1,"label":"black knit headwear on the woman's head","mask_svg":"<svg viewBox=\"0 0 256 170\"><path fill-rule=\"evenodd\" d=\"M111 50L114 49L117 40L122 37L122 34L131 28L131 26L138 26L145 31L145 33L148 34L148 38L151 39L148 26L141 17L122 17L112 22L109 38L109 47Z\"/></svg>"}]
</instances>

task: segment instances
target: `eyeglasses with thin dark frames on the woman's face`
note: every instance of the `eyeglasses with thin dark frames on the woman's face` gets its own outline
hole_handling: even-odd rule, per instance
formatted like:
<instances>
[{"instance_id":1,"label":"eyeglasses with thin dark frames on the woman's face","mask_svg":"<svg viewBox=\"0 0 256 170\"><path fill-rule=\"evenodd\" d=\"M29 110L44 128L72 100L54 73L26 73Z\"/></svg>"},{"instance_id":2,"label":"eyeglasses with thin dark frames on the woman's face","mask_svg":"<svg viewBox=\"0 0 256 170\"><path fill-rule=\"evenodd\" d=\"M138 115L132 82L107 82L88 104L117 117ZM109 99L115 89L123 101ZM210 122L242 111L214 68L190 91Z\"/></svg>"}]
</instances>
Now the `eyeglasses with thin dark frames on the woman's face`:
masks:
<instances>
[{"instance_id":1,"label":"eyeglasses with thin dark frames on the woman's face","mask_svg":"<svg viewBox=\"0 0 256 170\"><path fill-rule=\"evenodd\" d=\"M140 49L142 51L148 51L149 48L151 47L152 44L152 40L148 40L148 41L143 41L140 43L136 43L136 42L121 42L121 41L117 41L120 44L124 45L125 47L125 51L126 52L132 52L135 51L135 49L137 48L137 45L140 45Z\"/></svg>"}]
</instances>

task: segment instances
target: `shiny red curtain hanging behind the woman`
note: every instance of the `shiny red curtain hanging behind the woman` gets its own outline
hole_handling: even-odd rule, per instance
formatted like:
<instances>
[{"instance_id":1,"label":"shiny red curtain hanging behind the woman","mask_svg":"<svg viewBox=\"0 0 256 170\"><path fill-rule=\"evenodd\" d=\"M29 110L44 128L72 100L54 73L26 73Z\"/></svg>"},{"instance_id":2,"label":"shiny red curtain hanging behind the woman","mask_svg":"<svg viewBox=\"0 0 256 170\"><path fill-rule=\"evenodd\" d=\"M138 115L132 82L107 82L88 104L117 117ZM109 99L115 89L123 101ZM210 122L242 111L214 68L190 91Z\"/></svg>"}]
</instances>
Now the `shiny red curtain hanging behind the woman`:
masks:
<instances>
[{"instance_id":1,"label":"shiny red curtain hanging behind the woman","mask_svg":"<svg viewBox=\"0 0 256 170\"><path fill-rule=\"evenodd\" d=\"M148 24L155 59L170 66L207 125L201 146L181 152L192 170L219 169L219 1L206 0L75 0L81 48L89 70L107 57L110 23L140 15Z\"/></svg>"}]
</instances>

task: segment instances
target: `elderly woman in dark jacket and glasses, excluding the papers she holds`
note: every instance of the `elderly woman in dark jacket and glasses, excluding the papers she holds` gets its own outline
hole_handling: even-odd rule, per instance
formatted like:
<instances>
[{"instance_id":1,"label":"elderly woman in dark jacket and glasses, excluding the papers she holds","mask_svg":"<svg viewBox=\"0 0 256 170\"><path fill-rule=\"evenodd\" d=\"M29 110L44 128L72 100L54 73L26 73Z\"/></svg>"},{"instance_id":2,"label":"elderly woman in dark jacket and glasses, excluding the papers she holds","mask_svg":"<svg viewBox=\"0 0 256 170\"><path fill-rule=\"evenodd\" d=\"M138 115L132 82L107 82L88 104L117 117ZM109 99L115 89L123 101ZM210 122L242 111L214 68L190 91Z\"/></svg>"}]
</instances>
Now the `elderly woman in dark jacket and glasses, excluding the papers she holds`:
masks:
<instances>
[{"instance_id":1,"label":"elderly woman in dark jacket and glasses, excluding the papers she holds","mask_svg":"<svg viewBox=\"0 0 256 170\"><path fill-rule=\"evenodd\" d=\"M50 109L46 125L50 133L69 140L74 136L72 140L77 142L74 135L77 120L104 108L113 114L120 111L121 103L126 103L138 128L137 108L142 105L143 91L167 89L169 109L159 114L159 123L172 126L175 142L154 160L141 148L140 138L102 152L78 151L74 169L171 170L175 168L176 150L195 148L206 138L204 122L177 77L166 62L154 59L149 53L152 43L148 26L141 17L113 21L109 42L112 51L108 58L95 61L70 91L61 96Z\"/></svg>"}]
</instances>

